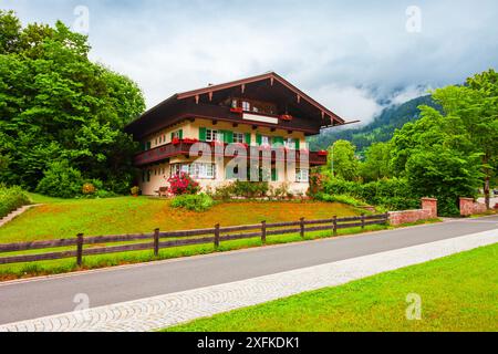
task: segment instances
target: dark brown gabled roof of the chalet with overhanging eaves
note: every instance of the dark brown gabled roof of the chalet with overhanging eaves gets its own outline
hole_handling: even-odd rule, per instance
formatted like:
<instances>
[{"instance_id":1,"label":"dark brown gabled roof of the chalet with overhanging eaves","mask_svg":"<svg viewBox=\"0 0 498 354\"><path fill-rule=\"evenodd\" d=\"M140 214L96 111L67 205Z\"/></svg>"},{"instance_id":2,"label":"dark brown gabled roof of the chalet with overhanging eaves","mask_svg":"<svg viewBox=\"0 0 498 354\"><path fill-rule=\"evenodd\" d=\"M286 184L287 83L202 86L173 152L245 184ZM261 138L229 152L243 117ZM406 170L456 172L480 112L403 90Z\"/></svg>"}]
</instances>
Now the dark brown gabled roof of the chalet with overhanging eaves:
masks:
<instances>
[{"instance_id":1,"label":"dark brown gabled roof of the chalet with overhanging eaves","mask_svg":"<svg viewBox=\"0 0 498 354\"><path fill-rule=\"evenodd\" d=\"M127 132L133 132L137 128L138 125L142 123L147 122L147 119L157 119L158 115L167 116L167 113L170 113L175 111L175 106L178 105L179 102L196 102L199 103L199 101L211 101L214 96L218 98L224 94L234 93L235 91L241 93L242 95L245 92L251 91L252 94L261 94L263 90L267 90L266 93L269 93L268 91L268 84L266 86L262 86L263 82L270 83L270 86L273 88L274 83L279 84L279 93L276 94L276 97L282 97L282 95L289 96L289 94L293 95L295 97L295 103L304 103L307 107L301 107L307 112L307 115L312 115L313 117L321 116L321 121L323 121L322 126L329 126L330 125L343 125L346 124L343 118L341 118L339 115L323 106L322 104L318 103L315 100L310 97L308 94L292 85L290 82L284 80L282 76L278 75L274 72L269 72L266 74L251 76L247 79L241 79L237 81L231 81L228 83L217 84L217 85L209 85L203 88L197 88L193 91L187 91L183 93L177 93L170 96L169 98L163 101L155 107L148 110L145 112L142 116L139 116L134 122L129 123L125 129ZM259 85L258 85L259 84ZM247 90L246 90L247 85ZM208 98L209 97L209 98ZM302 105L301 105L302 106ZM312 111L313 110L313 111ZM142 131L142 129L141 129Z\"/></svg>"}]
</instances>

